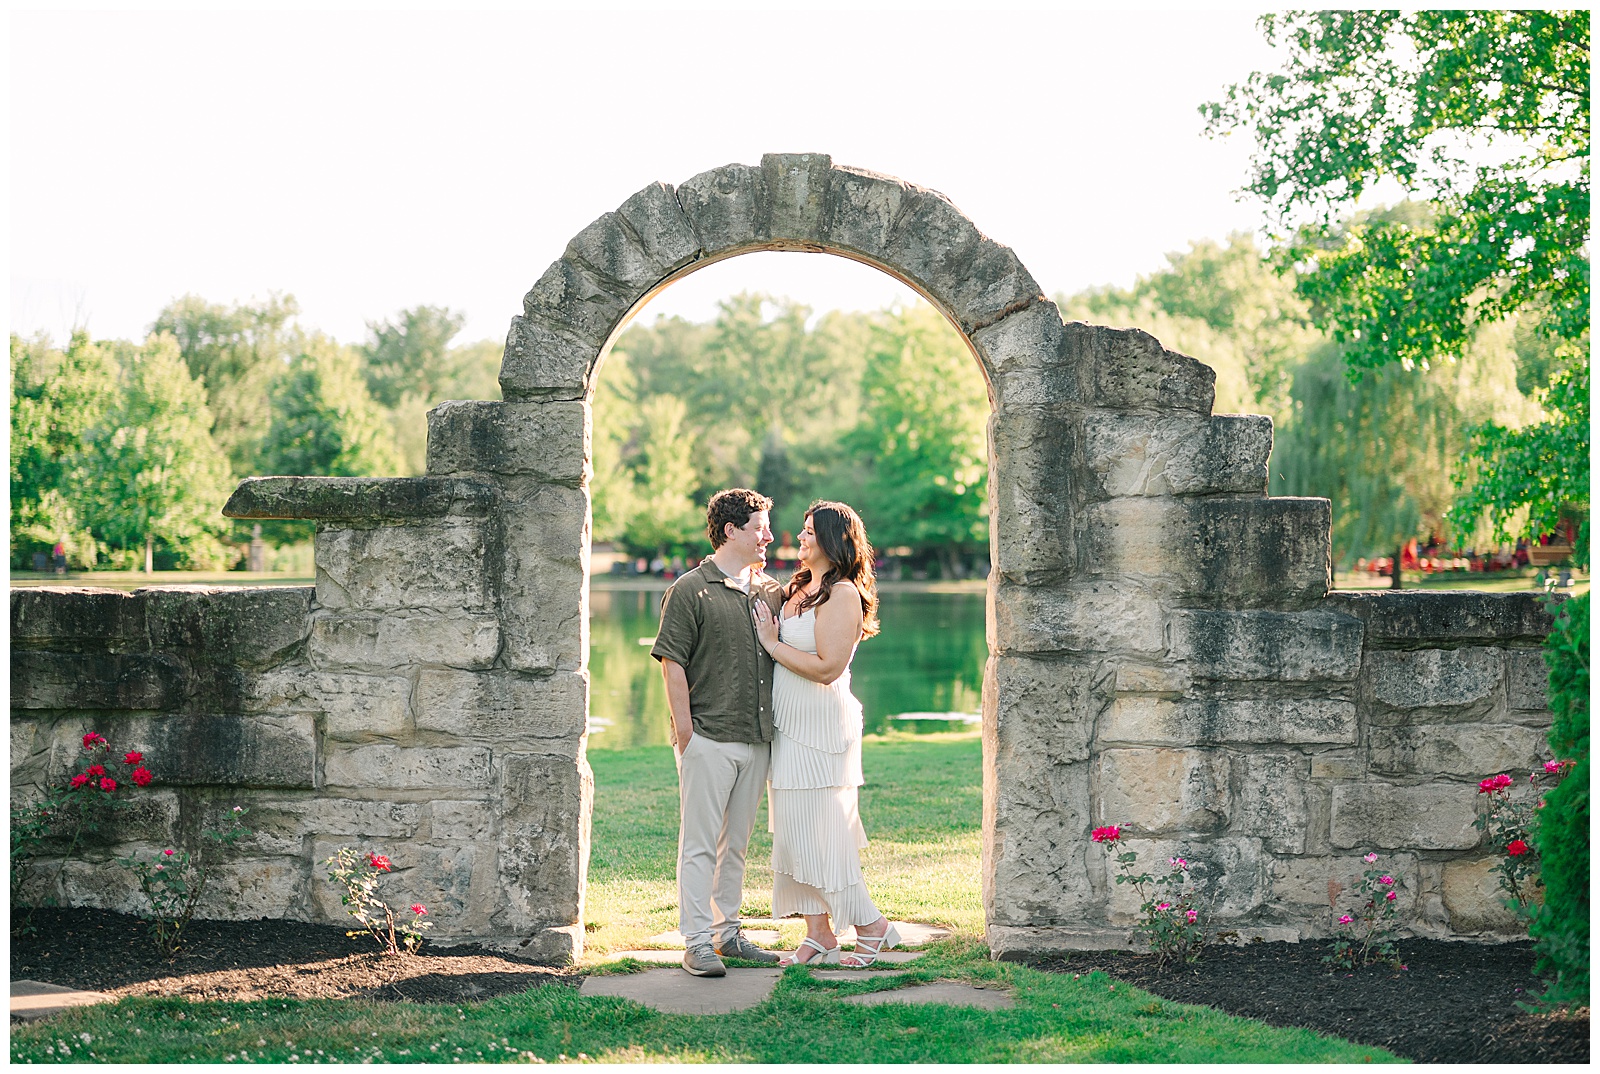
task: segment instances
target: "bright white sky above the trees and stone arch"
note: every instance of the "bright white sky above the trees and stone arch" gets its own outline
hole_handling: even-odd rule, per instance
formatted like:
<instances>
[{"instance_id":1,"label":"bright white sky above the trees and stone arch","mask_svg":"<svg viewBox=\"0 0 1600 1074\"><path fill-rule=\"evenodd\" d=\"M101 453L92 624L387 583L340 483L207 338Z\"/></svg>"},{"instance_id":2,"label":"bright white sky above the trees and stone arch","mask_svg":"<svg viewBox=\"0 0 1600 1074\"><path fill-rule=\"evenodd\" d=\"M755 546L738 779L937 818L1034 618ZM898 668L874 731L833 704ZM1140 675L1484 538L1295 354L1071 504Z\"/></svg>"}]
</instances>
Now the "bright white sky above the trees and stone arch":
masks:
<instances>
[{"instance_id":1,"label":"bright white sky above the trees and stone arch","mask_svg":"<svg viewBox=\"0 0 1600 1074\"><path fill-rule=\"evenodd\" d=\"M763 152L942 190L1046 295L1128 285L1259 227L1248 142L1195 109L1275 66L1245 11L14 13L10 42L10 327L58 339L270 291L347 343L422 303L498 338L594 218ZM755 254L643 320L739 290L909 298Z\"/></svg>"}]
</instances>

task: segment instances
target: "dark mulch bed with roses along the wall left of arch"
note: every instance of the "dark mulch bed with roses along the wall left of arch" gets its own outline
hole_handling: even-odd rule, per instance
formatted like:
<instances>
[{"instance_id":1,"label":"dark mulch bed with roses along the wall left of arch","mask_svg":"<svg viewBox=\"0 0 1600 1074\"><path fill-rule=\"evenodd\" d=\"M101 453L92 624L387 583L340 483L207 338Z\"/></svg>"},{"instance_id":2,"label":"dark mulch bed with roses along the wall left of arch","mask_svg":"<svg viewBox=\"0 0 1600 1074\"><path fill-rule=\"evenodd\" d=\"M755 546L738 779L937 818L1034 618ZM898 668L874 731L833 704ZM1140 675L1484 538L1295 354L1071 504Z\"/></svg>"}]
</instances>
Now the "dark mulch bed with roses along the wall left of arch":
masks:
<instances>
[{"instance_id":1,"label":"dark mulch bed with roses along the wall left of arch","mask_svg":"<svg viewBox=\"0 0 1600 1074\"><path fill-rule=\"evenodd\" d=\"M16 919L13 919L16 920ZM168 962L144 922L96 909L38 909L34 932L11 936L11 980L67 984L112 996L256 1000L376 999L456 1004L578 984L571 970L518 962L477 946L384 957L370 936L288 920L208 922L184 930Z\"/></svg>"}]
</instances>

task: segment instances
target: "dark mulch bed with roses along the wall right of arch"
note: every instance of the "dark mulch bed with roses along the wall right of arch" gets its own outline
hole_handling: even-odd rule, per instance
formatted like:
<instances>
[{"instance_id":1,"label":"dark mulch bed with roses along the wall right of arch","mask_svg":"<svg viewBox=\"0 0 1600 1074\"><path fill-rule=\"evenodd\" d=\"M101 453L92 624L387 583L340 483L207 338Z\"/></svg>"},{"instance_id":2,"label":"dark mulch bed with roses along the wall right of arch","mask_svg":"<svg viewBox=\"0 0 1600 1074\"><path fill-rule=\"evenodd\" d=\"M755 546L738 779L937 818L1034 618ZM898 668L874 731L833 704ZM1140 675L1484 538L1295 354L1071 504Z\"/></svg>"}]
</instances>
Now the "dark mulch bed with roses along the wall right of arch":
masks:
<instances>
[{"instance_id":1,"label":"dark mulch bed with roses along the wall right of arch","mask_svg":"<svg viewBox=\"0 0 1600 1074\"><path fill-rule=\"evenodd\" d=\"M1078 952L1037 959L1051 973L1104 970L1181 1004L1205 1004L1274 1026L1302 1026L1376 1044L1419 1063L1587 1063L1589 1010L1530 1015L1541 991L1533 944L1400 941L1405 970L1330 972L1320 943L1206 948L1158 970L1147 954Z\"/></svg>"}]
</instances>

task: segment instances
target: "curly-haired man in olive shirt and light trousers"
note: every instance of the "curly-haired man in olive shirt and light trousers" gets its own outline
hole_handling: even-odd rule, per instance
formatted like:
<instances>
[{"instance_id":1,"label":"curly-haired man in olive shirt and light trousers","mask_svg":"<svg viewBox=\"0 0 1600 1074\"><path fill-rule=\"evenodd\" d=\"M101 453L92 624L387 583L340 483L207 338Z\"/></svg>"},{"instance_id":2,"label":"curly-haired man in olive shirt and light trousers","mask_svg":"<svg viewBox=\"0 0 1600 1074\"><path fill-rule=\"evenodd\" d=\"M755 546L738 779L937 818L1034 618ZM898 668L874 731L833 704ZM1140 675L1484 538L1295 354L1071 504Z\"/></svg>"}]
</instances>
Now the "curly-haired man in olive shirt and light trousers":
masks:
<instances>
[{"instance_id":1,"label":"curly-haired man in olive shirt and light trousers","mask_svg":"<svg viewBox=\"0 0 1600 1074\"><path fill-rule=\"evenodd\" d=\"M722 957L778 962L741 932L744 852L773 749L773 658L754 602L776 615L782 587L762 573L773 501L728 488L706 504L712 554L661 599L661 661L678 762L678 932L683 968L723 976Z\"/></svg>"}]
</instances>

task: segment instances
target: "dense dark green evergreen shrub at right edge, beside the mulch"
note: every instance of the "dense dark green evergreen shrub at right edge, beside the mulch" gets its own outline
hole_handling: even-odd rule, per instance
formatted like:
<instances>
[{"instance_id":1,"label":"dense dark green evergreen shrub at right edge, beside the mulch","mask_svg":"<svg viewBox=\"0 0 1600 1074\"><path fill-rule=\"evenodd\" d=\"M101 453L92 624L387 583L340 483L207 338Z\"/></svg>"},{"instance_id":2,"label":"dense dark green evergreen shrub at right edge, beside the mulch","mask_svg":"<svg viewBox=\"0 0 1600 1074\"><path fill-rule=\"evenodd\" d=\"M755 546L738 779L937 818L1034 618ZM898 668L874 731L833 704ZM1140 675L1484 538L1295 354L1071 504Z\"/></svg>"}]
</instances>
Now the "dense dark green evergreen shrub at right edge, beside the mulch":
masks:
<instances>
[{"instance_id":1,"label":"dense dark green evergreen shrub at right edge, beside the mulch","mask_svg":"<svg viewBox=\"0 0 1600 1074\"><path fill-rule=\"evenodd\" d=\"M1560 603L1544 642L1550 667L1550 749L1571 771L1544 799L1539 855L1544 909L1530 933L1546 999L1589 1004L1589 594Z\"/></svg>"}]
</instances>

